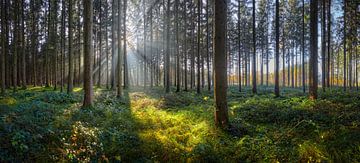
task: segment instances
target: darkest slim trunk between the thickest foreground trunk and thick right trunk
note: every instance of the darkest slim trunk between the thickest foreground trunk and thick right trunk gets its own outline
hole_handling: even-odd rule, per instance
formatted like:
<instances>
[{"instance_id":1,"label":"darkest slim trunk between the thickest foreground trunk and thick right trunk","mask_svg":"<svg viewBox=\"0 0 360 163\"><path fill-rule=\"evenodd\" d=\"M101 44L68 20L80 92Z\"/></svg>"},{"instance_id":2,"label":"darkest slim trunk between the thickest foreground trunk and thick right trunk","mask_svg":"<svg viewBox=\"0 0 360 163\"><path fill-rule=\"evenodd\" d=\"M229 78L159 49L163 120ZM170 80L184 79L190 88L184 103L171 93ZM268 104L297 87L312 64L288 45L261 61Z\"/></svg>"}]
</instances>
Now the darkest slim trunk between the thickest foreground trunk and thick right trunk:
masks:
<instances>
[{"instance_id":1,"label":"darkest slim trunk between the thickest foreground trunk and thick right trunk","mask_svg":"<svg viewBox=\"0 0 360 163\"><path fill-rule=\"evenodd\" d=\"M275 1L275 96L280 96L279 90L279 0Z\"/></svg>"}]
</instances>

